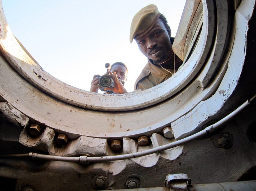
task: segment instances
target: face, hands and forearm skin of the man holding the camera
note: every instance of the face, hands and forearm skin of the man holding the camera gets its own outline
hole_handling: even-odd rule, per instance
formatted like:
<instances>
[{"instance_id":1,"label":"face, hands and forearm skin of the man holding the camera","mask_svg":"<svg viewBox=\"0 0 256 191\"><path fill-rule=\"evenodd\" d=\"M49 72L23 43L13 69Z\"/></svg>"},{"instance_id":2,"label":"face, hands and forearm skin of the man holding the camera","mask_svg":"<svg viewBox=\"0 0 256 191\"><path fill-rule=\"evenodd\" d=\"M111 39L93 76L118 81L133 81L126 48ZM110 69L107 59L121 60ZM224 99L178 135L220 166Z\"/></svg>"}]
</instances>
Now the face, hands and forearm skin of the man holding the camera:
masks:
<instances>
[{"instance_id":1,"label":"face, hands and forearm skin of the man holding the camera","mask_svg":"<svg viewBox=\"0 0 256 191\"><path fill-rule=\"evenodd\" d=\"M126 89L124 88L124 85L122 82L126 81L127 76L127 70L126 67L124 67L121 64L116 64L111 67L111 69L108 71L108 74L111 76L111 78L114 80L114 87L106 88L105 90L111 90L116 92L117 94L124 94L127 93ZM92 82L91 82L91 90L92 92L98 92L98 89L101 88L99 85L99 79L100 75L94 75Z\"/></svg>"}]
</instances>

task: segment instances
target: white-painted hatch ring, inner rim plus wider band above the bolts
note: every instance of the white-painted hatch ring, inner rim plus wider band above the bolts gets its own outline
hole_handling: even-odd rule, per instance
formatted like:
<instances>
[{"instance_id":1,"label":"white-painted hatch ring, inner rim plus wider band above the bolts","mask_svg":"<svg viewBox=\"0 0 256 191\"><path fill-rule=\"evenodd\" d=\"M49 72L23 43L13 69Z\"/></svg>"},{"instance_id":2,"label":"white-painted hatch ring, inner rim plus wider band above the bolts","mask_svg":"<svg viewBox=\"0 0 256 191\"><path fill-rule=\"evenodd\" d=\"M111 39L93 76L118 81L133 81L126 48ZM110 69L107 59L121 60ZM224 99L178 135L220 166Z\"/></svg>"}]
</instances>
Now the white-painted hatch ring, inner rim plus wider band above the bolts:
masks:
<instances>
[{"instance_id":1,"label":"white-painted hatch ring, inner rim plus wider band above the bolts","mask_svg":"<svg viewBox=\"0 0 256 191\"><path fill-rule=\"evenodd\" d=\"M86 92L50 76L20 46L11 33L2 11L0 39L2 52L12 67L25 79L16 73L6 60L1 59L0 78L4 85L0 87L0 95L26 116L55 130L69 133L69 138L79 135L101 138L151 136L153 130L162 130L215 92L220 79L225 74L224 63L217 78L207 77L211 80L211 84L207 88L203 85L208 82L205 76L211 75L209 69L213 66L212 71L214 71L216 67L216 63L212 64L212 60L218 63L221 58L221 55L215 52L223 49L224 46L223 43L218 45L219 48L211 53L213 56L207 62L207 67L204 66L212 46L216 18L214 18L213 1L203 1L203 7L202 32L192 56L184 66L166 82L127 95L99 95ZM224 24L222 28L226 27L225 23L219 22ZM221 34L218 35L226 35L226 30L223 31L220 30ZM196 77L200 70L204 75Z\"/></svg>"}]
</instances>

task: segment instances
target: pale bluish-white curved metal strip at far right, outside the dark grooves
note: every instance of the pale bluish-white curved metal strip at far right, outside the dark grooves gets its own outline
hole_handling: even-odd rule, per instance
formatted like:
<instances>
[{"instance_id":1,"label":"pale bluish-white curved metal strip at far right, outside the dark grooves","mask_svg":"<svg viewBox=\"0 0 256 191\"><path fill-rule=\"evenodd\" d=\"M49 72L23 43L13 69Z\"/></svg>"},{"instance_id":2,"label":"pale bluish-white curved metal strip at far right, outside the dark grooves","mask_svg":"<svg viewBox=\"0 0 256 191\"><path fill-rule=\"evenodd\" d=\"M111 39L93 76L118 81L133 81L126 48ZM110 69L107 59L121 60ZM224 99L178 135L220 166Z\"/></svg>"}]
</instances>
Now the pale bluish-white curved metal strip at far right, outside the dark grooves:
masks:
<instances>
[{"instance_id":1,"label":"pale bluish-white curved metal strip at far right, outside the dark grooves","mask_svg":"<svg viewBox=\"0 0 256 191\"><path fill-rule=\"evenodd\" d=\"M255 1L249 0L242 1L238 7L235 14L234 44L230 47L232 48L232 53L228 58L228 68L218 87L218 91L171 124L176 138L193 134L194 131L198 131L201 128L200 124L206 121L209 122L214 115L220 115L226 111L223 109L225 102L235 90L244 65L247 39L242 34L245 34L248 30L247 23L254 6Z\"/></svg>"}]
</instances>

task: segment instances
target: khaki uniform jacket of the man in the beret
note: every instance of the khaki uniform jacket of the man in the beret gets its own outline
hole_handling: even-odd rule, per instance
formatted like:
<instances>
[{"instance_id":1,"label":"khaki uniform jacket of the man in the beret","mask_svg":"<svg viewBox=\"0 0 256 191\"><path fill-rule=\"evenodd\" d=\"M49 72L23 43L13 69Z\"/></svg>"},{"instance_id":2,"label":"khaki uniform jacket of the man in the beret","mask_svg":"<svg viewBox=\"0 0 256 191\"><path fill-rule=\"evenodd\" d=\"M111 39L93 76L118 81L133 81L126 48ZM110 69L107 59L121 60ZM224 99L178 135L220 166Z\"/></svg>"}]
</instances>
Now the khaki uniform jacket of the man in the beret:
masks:
<instances>
[{"instance_id":1,"label":"khaki uniform jacket of the man in the beret","mask_svg":"<svg viewBox=\"0 0 256 191\"><path fill-rule=\"evenodd\" d=\"M148 63L143 68L134 84L134 90L152 88L169 79L171 76L172 74L170 72L154 65L148 59Z\"/></svg>"}]
</instances>

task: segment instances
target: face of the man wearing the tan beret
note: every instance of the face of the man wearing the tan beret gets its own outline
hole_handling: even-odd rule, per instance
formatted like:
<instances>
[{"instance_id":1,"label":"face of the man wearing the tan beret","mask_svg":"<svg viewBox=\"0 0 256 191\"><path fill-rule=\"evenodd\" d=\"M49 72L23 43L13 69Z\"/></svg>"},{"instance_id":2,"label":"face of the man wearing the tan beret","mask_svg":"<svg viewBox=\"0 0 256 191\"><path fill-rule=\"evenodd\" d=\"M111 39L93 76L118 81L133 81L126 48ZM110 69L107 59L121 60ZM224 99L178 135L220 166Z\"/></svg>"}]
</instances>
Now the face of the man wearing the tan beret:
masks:
<instances>
[{"instance_id":1,"label":"face of the man wearing the tan beret","mask_svg":"<svg viewBox=\"0 0 256 191\"><path fill-rule=\"evenodd\" d=\"M148 33L135 41L140 51L154 63L164 62L171 56L170 30L165 28L161 19Z\"/></svg>"}]
</instances>

